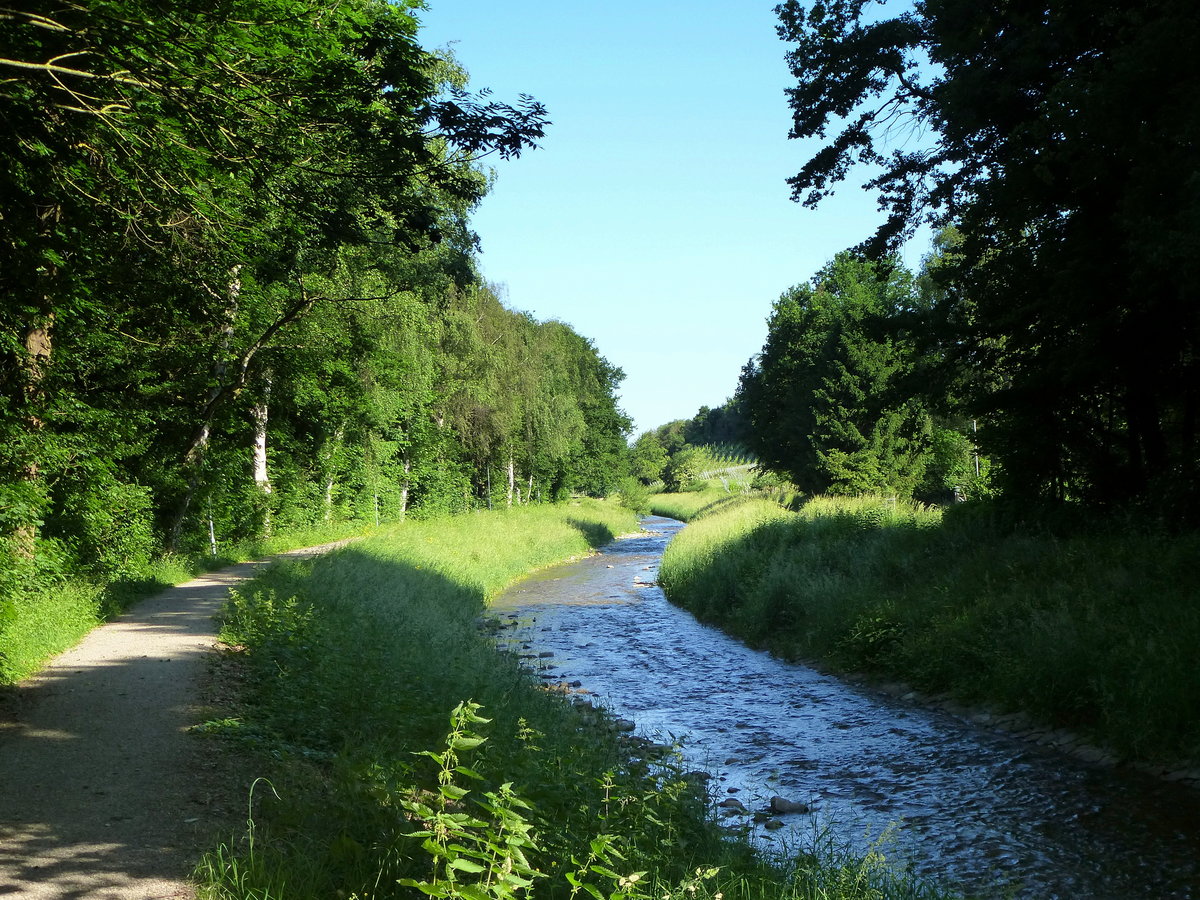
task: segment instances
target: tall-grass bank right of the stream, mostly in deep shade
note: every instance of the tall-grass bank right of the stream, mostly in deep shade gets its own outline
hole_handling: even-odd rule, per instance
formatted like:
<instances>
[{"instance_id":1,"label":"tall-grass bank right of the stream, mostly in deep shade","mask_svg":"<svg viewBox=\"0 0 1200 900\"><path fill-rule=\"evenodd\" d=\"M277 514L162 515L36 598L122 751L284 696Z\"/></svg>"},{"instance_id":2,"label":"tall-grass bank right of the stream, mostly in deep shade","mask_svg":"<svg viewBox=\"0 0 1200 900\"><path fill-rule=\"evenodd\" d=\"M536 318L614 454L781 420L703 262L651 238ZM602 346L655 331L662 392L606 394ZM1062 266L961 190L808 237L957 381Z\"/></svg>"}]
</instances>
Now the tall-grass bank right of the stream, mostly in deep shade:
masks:
<instances>
[{"instance_id":1,"label":"tall-grass bank right of the stream, mostly in deep shade","mask_svg":"<svg viewBox=\"0 0 1200 900\"><path fill-rule=\"evenodd\" d=\"M1200 762L1200 535L1013 530L817 498L725 504L660 580L698 617L781 655L1025 712L1118 754Z\"/></svg>"}]
</instances>

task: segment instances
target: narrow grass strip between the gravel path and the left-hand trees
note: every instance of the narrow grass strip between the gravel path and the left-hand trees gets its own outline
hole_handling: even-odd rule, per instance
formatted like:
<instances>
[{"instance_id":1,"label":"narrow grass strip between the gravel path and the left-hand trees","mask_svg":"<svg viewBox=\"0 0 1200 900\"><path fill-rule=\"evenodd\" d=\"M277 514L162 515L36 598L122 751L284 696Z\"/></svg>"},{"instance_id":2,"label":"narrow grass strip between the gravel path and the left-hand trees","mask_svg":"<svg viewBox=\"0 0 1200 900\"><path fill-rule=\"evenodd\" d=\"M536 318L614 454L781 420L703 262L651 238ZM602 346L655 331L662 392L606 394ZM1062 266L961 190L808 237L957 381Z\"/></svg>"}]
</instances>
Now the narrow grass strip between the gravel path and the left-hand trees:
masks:
<instances>
[{"instance_id":1,"label":"narrow grass strip between the gravel path and the left-hand trees","mask_svg":"<svg viewBox=\"0 0 1200 900\"><path fill-rule=\"evenodd\" d=\"M158 557L136 572L109 578L70 574L68 564L53 554L53 546L40 548L34 559L12 559L0 574L0 685L28 678L96 625L163 588L233 563L364 532L364 526L350 523L281 532L226 544L215 556Z\"/></svg>"}]
</instances>

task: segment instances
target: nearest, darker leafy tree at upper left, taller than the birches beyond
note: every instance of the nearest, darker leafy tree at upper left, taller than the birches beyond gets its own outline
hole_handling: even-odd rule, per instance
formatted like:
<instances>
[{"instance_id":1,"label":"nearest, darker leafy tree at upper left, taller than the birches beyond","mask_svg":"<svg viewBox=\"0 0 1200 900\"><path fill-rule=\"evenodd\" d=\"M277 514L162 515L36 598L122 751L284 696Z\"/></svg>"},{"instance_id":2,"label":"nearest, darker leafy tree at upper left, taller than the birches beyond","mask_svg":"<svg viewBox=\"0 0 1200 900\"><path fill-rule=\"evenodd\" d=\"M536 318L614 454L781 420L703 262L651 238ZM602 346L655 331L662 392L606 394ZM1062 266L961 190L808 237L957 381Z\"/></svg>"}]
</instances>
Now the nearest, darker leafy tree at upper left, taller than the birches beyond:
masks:
<instances>
[{"instance_id":1,"label":"nearest, darker leafy tree at upper left, taller than the birches beyond","mask_svg":"<svg viewBox=\"0 0 1200 900\"><path fill-rule=\"evenodd\" d=\"M100 448L88 427L122 402L168 422L156 439L179 470L152 476L178 538L216 474L212 436L246 412L269 350L322 305L368 299L313 283L346 247L424 253L473 277L466 215L487 185L474 160L533 145L545 112L448 84L410 8L0 12L0 524L23 552L61 505L49 481L78 481L85 460L138 468L137 446Z\"/></svg>"}]
</instances>

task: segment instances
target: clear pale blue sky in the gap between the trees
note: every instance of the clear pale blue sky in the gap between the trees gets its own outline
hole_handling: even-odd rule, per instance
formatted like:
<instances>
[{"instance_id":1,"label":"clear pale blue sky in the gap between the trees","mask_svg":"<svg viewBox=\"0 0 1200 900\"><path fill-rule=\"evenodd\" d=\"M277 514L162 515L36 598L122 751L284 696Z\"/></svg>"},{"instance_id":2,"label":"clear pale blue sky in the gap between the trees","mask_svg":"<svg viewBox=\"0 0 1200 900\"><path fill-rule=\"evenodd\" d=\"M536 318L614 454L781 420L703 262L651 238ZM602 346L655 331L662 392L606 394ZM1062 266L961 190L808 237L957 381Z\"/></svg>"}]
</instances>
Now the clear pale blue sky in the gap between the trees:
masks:
<instances>
[{"instance_id":1,"label":"clear pale blue sky in the gap between the trees","mask_svg":"<svg viewBox=\"0 0 1200 900\"><path fill-rule=\"evenodd\" d=\"M816 211L788 199L814 146L787 139L775 0L427 4L425 47L553 121L496 166L474 218L484 275L624 370L635 434L731 396L775 299L881 220L850 185Z\"/></svg>"}]
</instances>

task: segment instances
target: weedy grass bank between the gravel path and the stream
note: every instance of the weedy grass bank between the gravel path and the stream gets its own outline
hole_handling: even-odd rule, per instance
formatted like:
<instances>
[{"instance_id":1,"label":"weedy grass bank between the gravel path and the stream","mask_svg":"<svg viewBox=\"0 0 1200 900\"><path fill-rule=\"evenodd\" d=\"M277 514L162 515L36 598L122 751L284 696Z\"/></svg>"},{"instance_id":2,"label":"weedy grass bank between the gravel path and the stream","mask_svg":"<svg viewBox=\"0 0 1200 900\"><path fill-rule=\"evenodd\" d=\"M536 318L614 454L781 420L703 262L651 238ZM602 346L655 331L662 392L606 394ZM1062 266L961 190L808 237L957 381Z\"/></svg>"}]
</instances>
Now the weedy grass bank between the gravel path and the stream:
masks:
<instances>
[{"instance_id":1,"label":"weedy grass bank between the gravel path and the stream","mask_svg":"<svg viewBox=\"0 0 1200 900\"><path fill-rule=\"evenodd\" d=\"M474 514L277 566L239 592L226 622L239 698L205 730L240 742L270 785L251 834L202 865L203 893L932 896L876 856L757 857L670 755L620 740L497 653L480 625L487 598L631 528L598 502Z\"/></svg>"}]
</instances>

